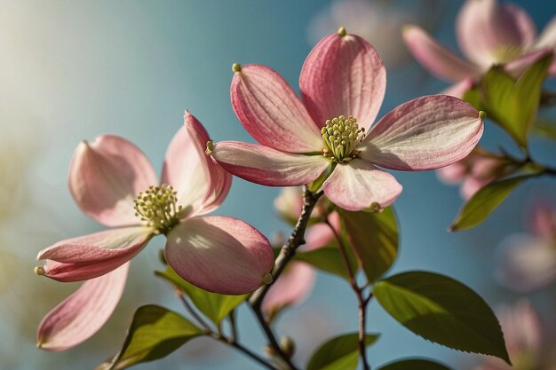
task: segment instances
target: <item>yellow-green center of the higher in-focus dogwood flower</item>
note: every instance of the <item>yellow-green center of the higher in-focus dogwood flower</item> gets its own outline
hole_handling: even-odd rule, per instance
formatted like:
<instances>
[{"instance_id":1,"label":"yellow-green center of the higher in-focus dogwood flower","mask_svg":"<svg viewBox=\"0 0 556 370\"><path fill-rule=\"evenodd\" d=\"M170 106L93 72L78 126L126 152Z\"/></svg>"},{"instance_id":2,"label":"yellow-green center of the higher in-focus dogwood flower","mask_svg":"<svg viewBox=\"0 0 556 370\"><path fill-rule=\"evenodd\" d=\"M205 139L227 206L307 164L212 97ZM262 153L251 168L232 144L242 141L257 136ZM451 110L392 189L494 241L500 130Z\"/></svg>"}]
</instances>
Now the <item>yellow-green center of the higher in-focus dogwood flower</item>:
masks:
<instances>
[{"instance_id":1,"label":"yellow-green center of the higher in-focus dogwood flower","mask_svg":"<svg viewBox=\"0 0 556 370\"><path fill-rule=\"evenodd\" d=\"M361 143L365 138L365 128L359 128L357 119L351 115L326 120L325 126L321 129L322 139L326 147L322 149L325 157L330 157L331 161L344 163L351 161L355 156L350 155L353 148Z\"/></svg>"}]
</instances>

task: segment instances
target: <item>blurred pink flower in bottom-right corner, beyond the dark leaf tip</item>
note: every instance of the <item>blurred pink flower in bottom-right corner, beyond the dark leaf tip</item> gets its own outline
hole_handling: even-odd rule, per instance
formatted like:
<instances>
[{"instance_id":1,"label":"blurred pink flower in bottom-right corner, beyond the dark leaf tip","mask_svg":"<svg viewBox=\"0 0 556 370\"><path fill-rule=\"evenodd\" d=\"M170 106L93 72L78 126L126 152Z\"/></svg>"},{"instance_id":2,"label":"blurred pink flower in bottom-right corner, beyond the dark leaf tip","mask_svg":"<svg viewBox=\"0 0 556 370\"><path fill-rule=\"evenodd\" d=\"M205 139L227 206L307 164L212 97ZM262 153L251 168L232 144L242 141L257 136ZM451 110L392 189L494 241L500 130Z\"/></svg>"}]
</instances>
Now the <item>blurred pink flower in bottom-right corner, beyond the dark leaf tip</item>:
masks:
<instances>
[{"instance_id":1,"label":"blurred pink flower in bottom-right corner, beyond the dark leaf tip","mask_svg":"<svg viewBox=\"0 0 556 370\"><path fill-rule=\"evenodd\" d=\"M527 300L496 310L513 366L499 358L486 357L475 370L531 370L539 368L543 350L543 324Z\"/></svg>"}]
</instances>

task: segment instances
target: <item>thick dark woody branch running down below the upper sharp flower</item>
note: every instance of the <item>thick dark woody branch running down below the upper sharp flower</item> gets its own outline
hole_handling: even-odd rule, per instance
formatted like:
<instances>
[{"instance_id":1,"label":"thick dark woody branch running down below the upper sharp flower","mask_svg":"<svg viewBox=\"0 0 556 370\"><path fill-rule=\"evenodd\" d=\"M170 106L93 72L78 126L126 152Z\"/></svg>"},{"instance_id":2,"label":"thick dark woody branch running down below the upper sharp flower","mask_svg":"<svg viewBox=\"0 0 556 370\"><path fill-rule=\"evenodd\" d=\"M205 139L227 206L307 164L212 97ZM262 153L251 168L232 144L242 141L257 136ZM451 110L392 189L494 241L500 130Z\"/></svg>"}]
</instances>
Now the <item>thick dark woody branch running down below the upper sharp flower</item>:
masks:
<instances>
[{"instance_id":1,"label":"thick dark woody branch running down below the upper sharp flower","mask_svg":"<svg viewBox=\"0 0 556 370\"><path fill-rule=\"evenodd\" d=\"M322 191L319 193L310 192L306 186L304 186L303 192L303 209L301 209L301 215L299 215L298 223L294 227L293 231L291 232L290 238L288 241L282 246L280 250L280 254L276 257L276 261L274 263L274 269L271 272L273 282L276 281L282 274L283 270L285 269L286 265L290 262L291 258L295 256L296 249L299 248L300 245L305 243L305 231L307 228L307 224L309 223L309 217L311 216L311 212L313 212L314 205L322 196ZM269 326L267 320L265 319L265 315L261 310L261 303L263 299L265 299L265 295L268 292L268 289L271 287L271 284L263 285L259 287L257 291L255 291L249 299L249 303L251 309L255 313L255 316L258 319L260 326L263 328L263 331L266 334L268 342L270 346L273 348L275 353L282 358L282 360L290 366L290 370L297 370L297 367L291 363L290 357L286 355L283 350L280 348L280 344L276 340L274 333Z\"/></svg>"}]
</instances>

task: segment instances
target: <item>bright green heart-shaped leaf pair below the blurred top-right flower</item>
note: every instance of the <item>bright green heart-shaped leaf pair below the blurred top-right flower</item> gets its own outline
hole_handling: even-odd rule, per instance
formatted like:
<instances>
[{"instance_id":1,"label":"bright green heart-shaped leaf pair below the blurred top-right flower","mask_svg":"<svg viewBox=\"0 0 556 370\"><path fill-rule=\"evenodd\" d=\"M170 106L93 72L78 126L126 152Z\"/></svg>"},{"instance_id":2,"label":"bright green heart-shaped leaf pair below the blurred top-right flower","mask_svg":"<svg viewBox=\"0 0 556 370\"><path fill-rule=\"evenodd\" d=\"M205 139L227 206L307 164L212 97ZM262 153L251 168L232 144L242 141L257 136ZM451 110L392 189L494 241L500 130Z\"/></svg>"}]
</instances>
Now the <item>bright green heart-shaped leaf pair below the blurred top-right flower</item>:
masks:
<instances>
[{"instance_id":1,"label":"bright green heart-shaped leaf pair below the blurred top-right flower","mask_svg":"<svg viewBox=\"0 0 556 370\"><path fill-rule=\"evenodd\" d=\"M527 134L535 121L546 71L552 54L536 61L517 82L500 67L491 68L481 81L481 105L521 146L527 147Z\"/></svg>"}]
</instances>

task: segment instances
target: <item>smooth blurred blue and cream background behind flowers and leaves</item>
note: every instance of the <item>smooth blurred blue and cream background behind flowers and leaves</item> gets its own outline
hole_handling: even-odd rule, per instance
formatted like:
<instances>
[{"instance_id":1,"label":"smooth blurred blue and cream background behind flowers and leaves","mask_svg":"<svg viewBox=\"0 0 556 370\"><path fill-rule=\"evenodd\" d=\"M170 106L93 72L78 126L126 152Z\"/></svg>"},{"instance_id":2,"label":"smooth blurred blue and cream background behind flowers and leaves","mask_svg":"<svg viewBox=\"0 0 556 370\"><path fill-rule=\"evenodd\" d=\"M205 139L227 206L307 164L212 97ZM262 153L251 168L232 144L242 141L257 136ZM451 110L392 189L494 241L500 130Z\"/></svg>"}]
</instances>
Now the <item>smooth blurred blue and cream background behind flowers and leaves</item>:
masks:
<instances>
[{"instance_id":1,"label":"smooth blurred blue and cream background behind flowers and leaves","mask_svg":"<svg viewBox=\"0 0 556 370\"><path fill-rule=\"evenodd\" d=\"M407 21L420 23L455 49L453 22L461 2L359 3L365 5L346 8L325 0L0 0L0 368L93 368L119 348L140 304L181 310L171 289L153 276L161 267L156 256L163 245L155 240L134 260L123 302L99 335L64 353L36 350L40 319L76 288L36 277L36 252L57 240L100 230L76 208L66 185L68 163L80 140L121 135L161 169L165 147L187 108L215 140L251 141L229 104L231 64L274 67L297 89L308 51L341 25L384 53L389 75L381 114L446 86L412 63L399 30ZM556 13L552 0L518 3L539 29ZM500 142L512 148L504 133L488 124L482 143L496 148ZM554 164L552 142L538 138L533 145L537 158ZM523 229L524 209L535 197L554 198L554 182L531 181L481 227L454 234L446 227L462 203L455 187L441 185L433 172L396 177L404 192L395 203L401 249L393 272L442 272L464 281L493 306L512 303L517 295L492 278L496 245L509 232ZM278 230L287 233L272 208L278 190L234 179L217 213L242 218L268 237ZM553 302L540 294L532 298L544 316L551 316ZM245 308L239 323L242 341L260 349L262 336ZM281 335L297 339L296 359L303 362L327 337L356 330L356 301L345 281L322 274L313 297L286 313L279 325ZM373 366L403 356L438 358L456 368L477 360L409 333L377 303L370 305L369 331L383 333L369 350ZM136 368L258 366L219 343L199 339L169 358Z\"/></svg>"}]
</instances>

